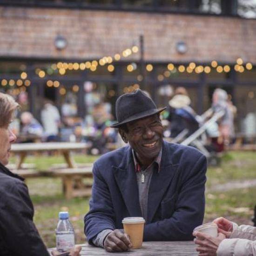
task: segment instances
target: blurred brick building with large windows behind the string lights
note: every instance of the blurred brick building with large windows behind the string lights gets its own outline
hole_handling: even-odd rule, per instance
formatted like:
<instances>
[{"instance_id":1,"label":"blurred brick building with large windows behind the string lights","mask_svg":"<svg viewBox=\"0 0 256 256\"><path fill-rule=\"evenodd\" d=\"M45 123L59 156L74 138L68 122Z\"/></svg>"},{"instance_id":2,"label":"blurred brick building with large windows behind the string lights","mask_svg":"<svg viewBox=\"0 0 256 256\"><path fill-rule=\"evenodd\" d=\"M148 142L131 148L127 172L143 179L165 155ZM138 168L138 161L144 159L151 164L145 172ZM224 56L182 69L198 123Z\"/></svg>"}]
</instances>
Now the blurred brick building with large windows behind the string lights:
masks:
<instances>
[{"instance_id":1,"label":"blurred brick building with large windows behind the string lights","mask_svg":"<svg viewBox=\"0 0 256 256\"><path fill-rule=\"evenodd\" d=\"M169 1L180 2L175 8L171 4L125 8L121 0L100 1L106 3L96 7L90 1L72 6L66 1L35 2L0 1L0 88L26 89L35 115L40 111L35 96L51 98L60 107L70 91L76 94L77 115L84 116L88 110L83 88L90 82L101 101L112 105L123 91L138 86L148 90L159 106L166 105L165 90L185 86L199 113L210 106L214 88L221 87L238 108L239 130L246 115L256 109L256 20L238 16L237 1L216 1L219 14L203 13L200 3L207 1L199 0ZM138 52L123 57L123 51L133 46ZM106 59L108 63L101 66L104 56L113 61ZM84 67L88 61L90 67ZM95 70L92 61L97 61ZM62 69L67 64L63 74L56 68L59 62ZM68 69L68 63L73 67ZM191 63L199 68L190 70ZM26 73L22 84L27 80L27 86L16 85L22 72ZM58 81L59 86L48 81Z\"/></svg>"}]
</instances>

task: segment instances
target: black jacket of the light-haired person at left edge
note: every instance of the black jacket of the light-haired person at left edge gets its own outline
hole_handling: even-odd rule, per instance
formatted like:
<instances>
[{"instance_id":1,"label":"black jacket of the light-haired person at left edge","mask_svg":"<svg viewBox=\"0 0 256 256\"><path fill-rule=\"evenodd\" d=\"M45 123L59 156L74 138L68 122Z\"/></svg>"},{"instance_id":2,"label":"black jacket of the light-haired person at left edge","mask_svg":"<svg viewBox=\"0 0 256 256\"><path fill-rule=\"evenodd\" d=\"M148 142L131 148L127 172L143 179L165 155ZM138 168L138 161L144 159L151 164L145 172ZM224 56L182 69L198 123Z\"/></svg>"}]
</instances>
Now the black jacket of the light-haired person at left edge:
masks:
<instances>
[{"instance_id":1,"label":"black jacket of the light-haired person at left edge","mask_svg":"<svg viewBox=\"0 0 256 256\"><path fill-rule=\"evenodd\" d=\"M33 216L33 204L23 178L0 163L1 256L49 256Z\"/></svg>"}]
</instances>

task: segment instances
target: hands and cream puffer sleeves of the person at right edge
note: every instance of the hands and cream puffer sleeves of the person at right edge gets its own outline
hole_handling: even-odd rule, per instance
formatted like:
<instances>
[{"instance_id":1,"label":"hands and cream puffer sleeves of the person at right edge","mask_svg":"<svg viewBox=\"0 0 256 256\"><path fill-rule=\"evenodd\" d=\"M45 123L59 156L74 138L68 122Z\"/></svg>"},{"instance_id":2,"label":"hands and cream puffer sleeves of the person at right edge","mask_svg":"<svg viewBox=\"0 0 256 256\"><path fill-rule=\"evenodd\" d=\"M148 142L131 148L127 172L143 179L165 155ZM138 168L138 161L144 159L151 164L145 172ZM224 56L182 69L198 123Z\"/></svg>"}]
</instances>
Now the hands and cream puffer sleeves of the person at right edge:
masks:
<instances>
[{"instance_id":1,"label":"hands and cream puffer sleeves of the person at right edge","mask_svg":"<svg viewBox=\"0 0 256 256\"><path fill-rule=\"evenodd\" d=\"M200 256L256 256L256 227L238 226L223 217L213 222L218 225L217 238L201 232L193 233Z\"/></svg>"}]
</instances>

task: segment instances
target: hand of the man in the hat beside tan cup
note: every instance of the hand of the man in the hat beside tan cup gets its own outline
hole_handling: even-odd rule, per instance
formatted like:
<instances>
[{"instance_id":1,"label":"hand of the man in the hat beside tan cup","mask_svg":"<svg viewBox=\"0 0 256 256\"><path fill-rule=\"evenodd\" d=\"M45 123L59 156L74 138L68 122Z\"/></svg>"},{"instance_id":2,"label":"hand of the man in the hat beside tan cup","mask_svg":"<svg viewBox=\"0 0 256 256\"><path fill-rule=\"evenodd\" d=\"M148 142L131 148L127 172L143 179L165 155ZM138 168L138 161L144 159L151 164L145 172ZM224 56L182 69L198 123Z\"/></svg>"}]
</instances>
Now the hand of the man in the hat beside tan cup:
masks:
<instances>
[{"instance_id":1,"label":"hand of the man in the hat beside tan cup","mask_svg":"<svg viewBox=\"0 0 256 256\"><path fill-rule=\"evenodd\" d=\"M115 229L108 234L104 241L104 249L108 252L127 251L132 247L131 240L126 233L122 233L119 229Z\"/></svg>"}]
</instances>

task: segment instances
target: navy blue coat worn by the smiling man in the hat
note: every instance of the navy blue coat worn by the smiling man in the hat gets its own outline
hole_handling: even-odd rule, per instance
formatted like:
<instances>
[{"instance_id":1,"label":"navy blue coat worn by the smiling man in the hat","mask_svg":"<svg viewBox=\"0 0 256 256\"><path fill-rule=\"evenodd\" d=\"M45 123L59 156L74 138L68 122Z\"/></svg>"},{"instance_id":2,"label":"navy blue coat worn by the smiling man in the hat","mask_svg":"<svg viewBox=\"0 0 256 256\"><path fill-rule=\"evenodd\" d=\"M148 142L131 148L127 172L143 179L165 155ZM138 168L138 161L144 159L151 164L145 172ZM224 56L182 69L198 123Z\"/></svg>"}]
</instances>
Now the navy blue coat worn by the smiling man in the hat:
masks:
<instances>
[{"instance_id":1,"label":"navy blue coat worn by the smiling man in the hat","mask_svg":"<svg viewBox=\"0 0 256 256\"><path fill-rule=\"evenodd\" d=\"M192 240L204 216L207 162L197 149L163 143L160 172L148 192L144 241ZM90 210L85 216L88 242L103 229L122 229L122 219L141 216L131 148L102 155L93 167Z\"/></svg>"}]
</instances>

